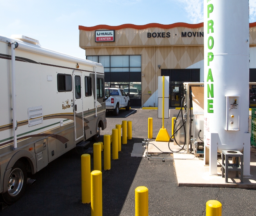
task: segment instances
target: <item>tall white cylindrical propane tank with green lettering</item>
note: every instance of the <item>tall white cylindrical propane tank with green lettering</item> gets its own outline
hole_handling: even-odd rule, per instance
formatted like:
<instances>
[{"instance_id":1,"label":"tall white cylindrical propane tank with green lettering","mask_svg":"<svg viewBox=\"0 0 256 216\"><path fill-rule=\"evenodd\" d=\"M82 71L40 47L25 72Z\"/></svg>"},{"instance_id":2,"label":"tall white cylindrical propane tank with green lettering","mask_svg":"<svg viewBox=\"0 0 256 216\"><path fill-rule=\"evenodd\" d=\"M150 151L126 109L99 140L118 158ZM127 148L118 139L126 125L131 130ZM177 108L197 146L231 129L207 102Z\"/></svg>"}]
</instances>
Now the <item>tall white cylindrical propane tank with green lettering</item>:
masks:
<instances>
[{"instance_id":1,"label":"tall white cylindrical propane tank with green lettering","mask_svg":"<svg viewBox=\"0 0 256 216\"><path fill-rule=\"evenodd\" d=\"M204 1L204 143L243 151L249 120L249 1ZM248 136L247 136L248 137Z\"/></svg>"}]
</instances>

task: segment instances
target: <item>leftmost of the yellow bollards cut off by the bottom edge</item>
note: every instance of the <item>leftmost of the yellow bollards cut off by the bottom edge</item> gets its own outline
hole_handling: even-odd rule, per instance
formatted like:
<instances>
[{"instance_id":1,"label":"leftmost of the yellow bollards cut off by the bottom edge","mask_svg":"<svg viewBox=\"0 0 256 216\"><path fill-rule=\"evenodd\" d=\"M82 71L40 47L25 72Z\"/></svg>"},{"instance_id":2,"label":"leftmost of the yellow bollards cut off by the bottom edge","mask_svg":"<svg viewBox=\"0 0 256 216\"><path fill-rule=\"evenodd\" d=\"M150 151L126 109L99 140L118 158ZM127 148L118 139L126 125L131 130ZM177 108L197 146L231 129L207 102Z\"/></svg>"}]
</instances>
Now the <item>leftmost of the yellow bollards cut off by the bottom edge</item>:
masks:
<instances>
[{"instance_id":1,"label":"leftmost of the yellow bollards cut off by the bottom edge","mask_svg":"<svg viewBox=\"0 0 256 216\"><path fill-rule=\"evenodd\" d=\"M91 216L102 216L102 172L91 172Z\"/></svg>"}]
</instances>

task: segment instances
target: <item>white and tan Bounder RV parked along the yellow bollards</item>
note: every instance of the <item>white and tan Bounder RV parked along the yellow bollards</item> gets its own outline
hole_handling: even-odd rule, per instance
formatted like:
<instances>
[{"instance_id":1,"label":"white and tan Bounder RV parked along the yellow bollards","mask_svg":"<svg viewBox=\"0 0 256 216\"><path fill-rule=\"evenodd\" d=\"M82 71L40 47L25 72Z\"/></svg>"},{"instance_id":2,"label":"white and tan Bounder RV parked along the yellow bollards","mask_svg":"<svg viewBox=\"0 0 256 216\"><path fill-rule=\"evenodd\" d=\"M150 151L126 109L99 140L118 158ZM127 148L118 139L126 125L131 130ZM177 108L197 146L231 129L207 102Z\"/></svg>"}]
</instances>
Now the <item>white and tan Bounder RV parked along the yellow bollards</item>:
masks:
<instances>
[{"instance_id":1,"label":"white and tan Bounder RV parked along the yellow bollards","mask_svg":"<svg viewBox=\"0 0 256 216\"><path fill-rule=\"evenodd\" d=\"M12 204L28 172L106 128L104 68L22 35L0 36L0 65L0 193Z\"/></svg>"}]
</instances>

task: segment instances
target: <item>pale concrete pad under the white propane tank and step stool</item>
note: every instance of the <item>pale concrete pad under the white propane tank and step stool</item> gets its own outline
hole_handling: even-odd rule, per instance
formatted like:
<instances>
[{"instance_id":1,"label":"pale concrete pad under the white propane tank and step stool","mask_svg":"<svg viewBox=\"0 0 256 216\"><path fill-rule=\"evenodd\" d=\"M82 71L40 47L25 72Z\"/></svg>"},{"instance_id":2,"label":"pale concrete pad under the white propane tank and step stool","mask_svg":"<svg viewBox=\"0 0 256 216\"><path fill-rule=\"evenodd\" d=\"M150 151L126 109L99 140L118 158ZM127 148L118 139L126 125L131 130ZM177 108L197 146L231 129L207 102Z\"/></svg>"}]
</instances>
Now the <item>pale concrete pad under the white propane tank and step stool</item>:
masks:
<instances>
[{"instance_id":1,"label":"pale concrete pad under the white propane tank and step stool","mask_svg":"<svg viewBox=\"0 0 256 216\"><path fill-rule=\"evenodd\" d=\"M221 177L221 158L218 158L218 176L211 176L209 166L204 166L203 160L194 158L194 155L174 153L173 157L178 186L256 188L255 154L251 154L250 172L252 176L244 176L242 184L240 179L235 177L234 171L229 171L228 183L225 183L225 178Z\"/></svg>"}]
</instances>

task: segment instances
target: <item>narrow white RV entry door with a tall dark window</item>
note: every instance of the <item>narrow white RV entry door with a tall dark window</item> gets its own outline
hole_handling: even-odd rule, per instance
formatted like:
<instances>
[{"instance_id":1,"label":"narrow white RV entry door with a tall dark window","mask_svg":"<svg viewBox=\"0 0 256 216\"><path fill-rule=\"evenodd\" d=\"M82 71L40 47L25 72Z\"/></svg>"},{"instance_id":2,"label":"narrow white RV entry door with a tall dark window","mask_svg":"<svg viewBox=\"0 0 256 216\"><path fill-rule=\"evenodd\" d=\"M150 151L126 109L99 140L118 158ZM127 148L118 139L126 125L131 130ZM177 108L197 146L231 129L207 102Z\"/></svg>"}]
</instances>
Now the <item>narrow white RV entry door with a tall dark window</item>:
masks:
<instances>
[{"instance_id":1,"label":"narrow white RV entry door with a tall dark window","mask_svg":"<svg viewBox=\"0 0 256 216\"><path fill-rule=\"evenodd\" d=\"M82 73L79 71L73 72L73 86L75 140L77 141L84 136Z\"/></svg>"}]
</instances>

